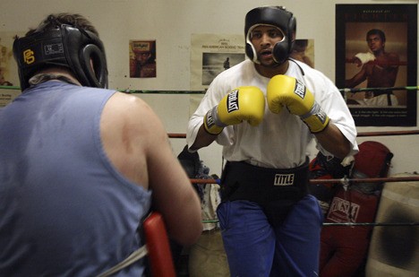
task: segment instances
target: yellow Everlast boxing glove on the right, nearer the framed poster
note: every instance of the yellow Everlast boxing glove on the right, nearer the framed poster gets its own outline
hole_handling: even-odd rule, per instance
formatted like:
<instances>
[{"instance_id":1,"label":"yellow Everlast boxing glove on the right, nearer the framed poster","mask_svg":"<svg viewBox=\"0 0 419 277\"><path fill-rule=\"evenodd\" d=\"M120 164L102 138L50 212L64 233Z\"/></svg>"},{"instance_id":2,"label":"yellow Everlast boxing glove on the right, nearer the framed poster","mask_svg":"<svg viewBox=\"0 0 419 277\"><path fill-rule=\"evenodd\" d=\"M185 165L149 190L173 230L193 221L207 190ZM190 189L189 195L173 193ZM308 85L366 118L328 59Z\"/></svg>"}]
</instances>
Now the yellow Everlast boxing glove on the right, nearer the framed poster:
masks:
<instances>
[{"instance_id":1,"label":"yellow Everlast boxing glove on the right, nearer the framed poster","mask_svg":"<svg viewBox=\"0 0 419 277\"><path fill-rule=\"evenodd\" d=\"M329 125L329 117L314 100L312 92L303 82L286 75L276 75L268 83L266 91L270 111L278 114L282 107L300 117L310 132L320 133Z\"/></svg>"}]
</instances>

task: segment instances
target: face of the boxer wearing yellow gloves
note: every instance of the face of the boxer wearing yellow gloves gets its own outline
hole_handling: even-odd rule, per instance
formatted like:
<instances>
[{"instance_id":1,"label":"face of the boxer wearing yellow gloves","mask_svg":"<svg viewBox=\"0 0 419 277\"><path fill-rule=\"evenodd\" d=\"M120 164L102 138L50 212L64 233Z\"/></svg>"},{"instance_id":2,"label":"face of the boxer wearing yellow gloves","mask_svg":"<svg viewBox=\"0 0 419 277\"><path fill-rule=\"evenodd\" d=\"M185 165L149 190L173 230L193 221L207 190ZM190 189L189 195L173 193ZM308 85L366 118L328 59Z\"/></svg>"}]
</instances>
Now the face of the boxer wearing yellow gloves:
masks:
<instances>
[{"instance_id":1,"label":"face of the boxer wearing yellow gloves","mask_svg":"<svg viewBox=\"0 0 419 277\"><path fill-rule=\"evenodd\" d=\"M251 42L258 55L261 65L275 65L272 56L272 49L275 44L285 38L282 30L275 26L260 25L255 27L251 33Z\"/></svg>"}]
</instances>

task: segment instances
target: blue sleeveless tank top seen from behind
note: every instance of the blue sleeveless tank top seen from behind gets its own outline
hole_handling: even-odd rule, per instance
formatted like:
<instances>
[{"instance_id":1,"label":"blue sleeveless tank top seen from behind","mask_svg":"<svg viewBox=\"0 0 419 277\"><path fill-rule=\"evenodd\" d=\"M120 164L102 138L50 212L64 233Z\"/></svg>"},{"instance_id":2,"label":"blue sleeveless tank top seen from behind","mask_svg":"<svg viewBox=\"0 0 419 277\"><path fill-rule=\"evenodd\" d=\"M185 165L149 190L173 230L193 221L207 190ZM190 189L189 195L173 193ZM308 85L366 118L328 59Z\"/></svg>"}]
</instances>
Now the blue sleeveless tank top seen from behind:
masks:
<instances>
[{"instance_id":1,"label":"blue sleeveless tank top seen from behind","mask_svg":"<svg viewBox=\"0 0 419 277\"><path fill-rule=\"evenodd\" d=\"M143 245L151 193L114 168L100 139L114 93L50 81L0 109L0 276L94 276Z\"/></svg>"}]
</instances>

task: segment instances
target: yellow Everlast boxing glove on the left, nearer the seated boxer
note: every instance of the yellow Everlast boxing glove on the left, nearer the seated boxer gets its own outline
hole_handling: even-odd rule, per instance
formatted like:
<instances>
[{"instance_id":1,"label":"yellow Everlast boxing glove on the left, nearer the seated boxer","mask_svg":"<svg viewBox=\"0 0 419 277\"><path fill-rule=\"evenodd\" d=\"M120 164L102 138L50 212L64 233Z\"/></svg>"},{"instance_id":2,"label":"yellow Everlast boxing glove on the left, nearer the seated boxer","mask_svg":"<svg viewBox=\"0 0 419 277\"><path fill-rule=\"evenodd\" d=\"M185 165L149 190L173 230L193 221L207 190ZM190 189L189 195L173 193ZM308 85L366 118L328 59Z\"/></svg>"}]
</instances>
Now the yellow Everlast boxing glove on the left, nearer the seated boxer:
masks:
<instances>
[{"instance_id":1,"label":"yellow Everlast boxing glove on the left, nearer the seated boxer","mask_svg":"<svg viewBox=\"0 0 419 277\"><path fill-rule=\"evenodd\" d=\"M265 114L265 96L253 86L238 87L230 91L204 117L204 127L209 134L219 134L225 126L249 122L258 126Z\"/></svg>"}]
</instances>

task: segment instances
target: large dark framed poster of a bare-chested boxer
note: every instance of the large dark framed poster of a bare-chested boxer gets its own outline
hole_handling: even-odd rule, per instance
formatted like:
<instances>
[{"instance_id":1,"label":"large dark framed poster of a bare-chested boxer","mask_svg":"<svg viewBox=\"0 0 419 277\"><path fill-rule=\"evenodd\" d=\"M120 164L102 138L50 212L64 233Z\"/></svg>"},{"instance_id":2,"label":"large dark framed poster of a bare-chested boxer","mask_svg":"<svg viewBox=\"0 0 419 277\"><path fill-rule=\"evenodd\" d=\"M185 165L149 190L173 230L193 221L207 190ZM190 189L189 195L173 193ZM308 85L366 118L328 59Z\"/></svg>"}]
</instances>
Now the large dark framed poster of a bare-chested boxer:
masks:
<instances>
[{"instance_id":1,"label":"large dark framed poster of a bare-chested boxer","mask_svg":"<svg viewBox=\"0 0 419 277\"><path fill-rule=\"evenodd\" d=\"M416 126L417 4L336 5L336 85L356 126Z\"/></svg>"}]
</instances>

